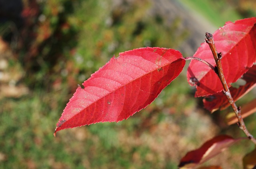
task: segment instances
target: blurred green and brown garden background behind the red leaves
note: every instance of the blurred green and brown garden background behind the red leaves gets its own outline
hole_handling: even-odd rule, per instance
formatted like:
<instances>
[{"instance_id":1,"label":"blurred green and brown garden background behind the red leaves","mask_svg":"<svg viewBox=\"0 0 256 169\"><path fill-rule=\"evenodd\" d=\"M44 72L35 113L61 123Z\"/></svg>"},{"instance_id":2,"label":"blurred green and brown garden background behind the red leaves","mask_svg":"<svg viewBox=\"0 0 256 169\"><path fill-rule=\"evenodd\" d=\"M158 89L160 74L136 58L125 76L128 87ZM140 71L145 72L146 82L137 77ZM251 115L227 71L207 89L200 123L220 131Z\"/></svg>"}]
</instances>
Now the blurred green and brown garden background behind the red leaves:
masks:
<instances>
[{"instance_id":1,"label":"blurred green and brown garden background behind the red leaves","mask_svg":"<svg viewBox=\"0 0 256 169\"><path fill-rule=\"evenodd\" d=\"M186 70L128 120L53 133L77 85L113 55L152 46L192 56L206 31L256 16L254 0L18 2L0 0L0 168L172 169L215 135L244 136L226 126L226 111L203 109ZM256 116L250 117L255 136ZM241 168L253 147L240 142L206 165Z\"/></svg>"}]
</instances>

